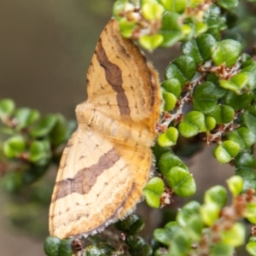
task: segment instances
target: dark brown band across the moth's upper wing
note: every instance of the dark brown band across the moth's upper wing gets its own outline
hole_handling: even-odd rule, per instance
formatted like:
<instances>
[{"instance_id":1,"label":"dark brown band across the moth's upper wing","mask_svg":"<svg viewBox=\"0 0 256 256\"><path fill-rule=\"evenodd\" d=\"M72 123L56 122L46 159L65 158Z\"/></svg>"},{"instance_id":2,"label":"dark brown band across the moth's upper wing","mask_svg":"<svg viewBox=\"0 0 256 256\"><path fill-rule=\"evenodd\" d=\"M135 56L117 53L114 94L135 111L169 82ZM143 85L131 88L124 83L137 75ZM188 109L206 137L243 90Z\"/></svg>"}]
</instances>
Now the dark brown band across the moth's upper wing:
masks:
<instances>
[{"instance_id":1,"label":"dark brown band across the moth's upper wing","mask_svg":"<svg viewBox=\"0 0 256 256\"><path fill-rule=\"evenodd\" d=\"M102 46L101 38L97 44L96 57L100 65L105 70L105 77L108 81L108 84L110 84L112 89L117 93L116 100L119 106L120 114L129 115L131 110L129 108L127 96L125 96L125 90L122 87L122 71L116 64L108 60L108 56L106 55L105 49Z\"/></svg>"}]
</instances>

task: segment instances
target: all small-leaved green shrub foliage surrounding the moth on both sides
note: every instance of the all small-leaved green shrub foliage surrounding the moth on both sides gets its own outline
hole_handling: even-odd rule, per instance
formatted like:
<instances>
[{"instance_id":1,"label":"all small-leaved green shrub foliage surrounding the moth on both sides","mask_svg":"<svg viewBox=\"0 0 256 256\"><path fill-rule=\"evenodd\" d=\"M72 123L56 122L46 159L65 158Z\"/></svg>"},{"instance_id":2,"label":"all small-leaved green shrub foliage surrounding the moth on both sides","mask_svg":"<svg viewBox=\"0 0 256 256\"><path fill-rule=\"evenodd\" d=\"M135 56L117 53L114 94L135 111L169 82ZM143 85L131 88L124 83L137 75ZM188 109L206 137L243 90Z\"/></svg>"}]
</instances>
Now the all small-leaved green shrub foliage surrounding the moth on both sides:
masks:
<instances>
[{"instance_id":1,"label":"all small-leaved green shrub foliage surrounding the moth on both sides","mask_svg":"<svg viewBox=\"0 0 256 256\"><path fill-rule=\"evenodd\" d=\"M81 255L203 252L221 256L233 255L236 247L245 243L241 219L256 224L256 61L242 53L243 44L227 37L239 20L237 5L237 0L214 4L201 0L117 0L113 4L113 16L125 38L137 39L149 51L181 43L181 55L167 65L161 84L163 114L153 148L156 175L143 189L148 206L165 207L175 196L195 194L195 179L177 152L184 152L189 143L198 143L201 138L215 144L215 159L232 164L236 175L227 180L232 196L229 206L228 191L215 185L206 191L202 203L189 201L172 221L168 216L153 231L150 244L140 236L143 218L132 214L114 224L121 232L119 237L112 230L107 238L90 237L91 244L81 249ZM42 118L37 110L15 108L10 99L0 101L0 119L1 184L5 191L16 194L38 181L60 159L58 149L67 142L73 126L60 114ZM252 235L246 249L256 255L255 231ZM48 256L77 253L73 239L52 236L46 238L44 252Z\"/></svg>"}]
</instances>

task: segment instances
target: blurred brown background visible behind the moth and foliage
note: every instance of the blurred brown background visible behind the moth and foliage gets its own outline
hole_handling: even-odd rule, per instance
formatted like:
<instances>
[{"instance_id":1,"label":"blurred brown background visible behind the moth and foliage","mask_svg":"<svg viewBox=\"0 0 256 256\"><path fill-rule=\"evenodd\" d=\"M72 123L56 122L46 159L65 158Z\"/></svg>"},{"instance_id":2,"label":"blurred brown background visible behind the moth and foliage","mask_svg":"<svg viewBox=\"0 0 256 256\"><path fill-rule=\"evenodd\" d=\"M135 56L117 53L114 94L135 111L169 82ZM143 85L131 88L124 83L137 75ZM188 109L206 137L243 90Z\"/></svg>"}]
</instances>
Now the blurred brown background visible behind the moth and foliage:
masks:
<instances>
[{"instance_id":1,"label":"blurred brown background visible behind the moth and foliage","mask_svg":"<svg viewBox=\"0 0 256 256\"><path fill-rule=\"evenodd\" d=\"M86 71L96 41L112 15L113 2L0 1L0 99L9 97L18 107L36 108L42 114L62 113L74 119L75 106L85 100ZM178 46L148 55L161 70L161 79L166 64L175 55ZM211 151L204 147L202 154L188 161L195 180L203 181L198 183L199 195L233 174L231 167L212 160ZM44 236L11 228L11 208L3 211L7 201L0 192L0 255L44 255ZM41 212L36 218L39 223L42 219L47 230L48 213Z\"/></svg>"}]
</instances>

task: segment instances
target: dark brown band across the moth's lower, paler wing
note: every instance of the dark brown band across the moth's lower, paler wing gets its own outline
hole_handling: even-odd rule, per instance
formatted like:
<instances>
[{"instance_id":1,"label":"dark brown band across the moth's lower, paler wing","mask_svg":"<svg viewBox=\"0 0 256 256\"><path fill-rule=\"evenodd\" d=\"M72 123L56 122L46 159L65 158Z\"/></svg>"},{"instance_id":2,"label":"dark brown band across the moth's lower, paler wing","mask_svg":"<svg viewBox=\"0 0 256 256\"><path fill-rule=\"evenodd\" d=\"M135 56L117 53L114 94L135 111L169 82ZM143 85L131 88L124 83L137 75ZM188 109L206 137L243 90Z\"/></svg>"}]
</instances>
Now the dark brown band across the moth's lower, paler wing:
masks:
<instances>
[{"instance_id":1,"label":"dark brown band across the moth's lower, paler wing","mask_svg":"<svg viewBox=\"0 0 256 256\"><path fill-rule=\"evenodd\" d=\"M119 154L114 149L111 149L106 154L103 154L95 165L80 170L73 178L67 178L55 183L56 193L53 195L51 202L54 203L72 193L87 194L96 183L97 177L104 170L112 167L118 160Z\"/></svg>"}]
</instances>

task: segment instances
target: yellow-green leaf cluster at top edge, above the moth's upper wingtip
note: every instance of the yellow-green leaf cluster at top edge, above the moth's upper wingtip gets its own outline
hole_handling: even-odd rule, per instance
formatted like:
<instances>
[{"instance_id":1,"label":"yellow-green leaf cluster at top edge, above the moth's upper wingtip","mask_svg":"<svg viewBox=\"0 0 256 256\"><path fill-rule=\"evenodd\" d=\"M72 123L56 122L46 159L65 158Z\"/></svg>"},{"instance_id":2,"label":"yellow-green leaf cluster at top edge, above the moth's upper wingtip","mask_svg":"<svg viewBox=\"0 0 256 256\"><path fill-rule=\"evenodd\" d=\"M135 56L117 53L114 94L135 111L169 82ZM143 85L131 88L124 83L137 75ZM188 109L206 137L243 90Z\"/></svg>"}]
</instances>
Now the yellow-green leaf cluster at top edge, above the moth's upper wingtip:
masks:
<instances>
[{"instance_id":1,"label":"yellow-green leaf cluster at top edge, above the moth's upper wingtip","mask_svg":"<svg viewBox=\"0 0 256 256\"><path fill-rule=\"evenodd\" d=\"M152 50L159 46L170 47L204 32L218 38L226 28L220 7L228 9L236 4L222 1L218 5L186 0L142 1L138 12L133 1L119 0L113 5L113 15L119 20L125 38L138 38L139 44ZM147 30L145 24L148 24Z\"/></svg>"}]
</instances>

